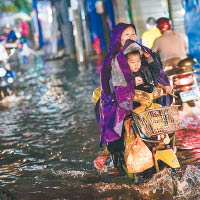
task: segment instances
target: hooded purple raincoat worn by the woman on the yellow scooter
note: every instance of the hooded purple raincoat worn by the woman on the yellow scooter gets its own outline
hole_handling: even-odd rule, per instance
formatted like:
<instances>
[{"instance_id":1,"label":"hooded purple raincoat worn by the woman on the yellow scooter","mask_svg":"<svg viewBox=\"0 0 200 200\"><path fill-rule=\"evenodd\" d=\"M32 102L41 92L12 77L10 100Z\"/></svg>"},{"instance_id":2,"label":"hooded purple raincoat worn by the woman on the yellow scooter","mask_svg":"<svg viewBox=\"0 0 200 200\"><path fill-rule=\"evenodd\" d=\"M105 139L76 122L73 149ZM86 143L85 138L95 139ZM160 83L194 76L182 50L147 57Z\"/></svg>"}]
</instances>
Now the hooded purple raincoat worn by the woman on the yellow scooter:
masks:
<instances>
[{"instance_id":1,"label":"hooded purple raincoat worn by the woman on the yellow scooter","mask_svg":"<svg viewBox=\"0 0 200 200\"><path fill-rule=\"evenodd\" d=\"M100 102L96 105L98 106L96 110L99 111L100 115L100 146L120 139L124 118L133 110L134 81L124 50L134 41L129 40L124 48L120 49L121 34L129 26L134 28L131 24L119 23L113 29L109 52L101 71L101 97ZM158 65L158 81L163 85L170 85L157 57L153 56L155 53L142 45L140 47L144 54L148 54L152 61ZM118 73L124 77L124 80L119 80L119 84L113 80L114 76L117 77L112 71L113 67L119 69ZM167 104L170 103L168 100Z\"/></svg>"}]
</instances>

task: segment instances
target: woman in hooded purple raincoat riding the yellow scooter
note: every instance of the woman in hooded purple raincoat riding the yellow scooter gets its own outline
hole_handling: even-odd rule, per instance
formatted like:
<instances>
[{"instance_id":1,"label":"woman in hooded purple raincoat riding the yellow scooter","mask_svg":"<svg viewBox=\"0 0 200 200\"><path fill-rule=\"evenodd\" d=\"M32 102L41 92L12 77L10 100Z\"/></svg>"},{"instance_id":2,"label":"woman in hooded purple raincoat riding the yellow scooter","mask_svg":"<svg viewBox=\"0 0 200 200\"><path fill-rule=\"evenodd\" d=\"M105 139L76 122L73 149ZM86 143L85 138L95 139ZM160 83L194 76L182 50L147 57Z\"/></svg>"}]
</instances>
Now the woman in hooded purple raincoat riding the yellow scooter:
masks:
<instances>
[{"instance_id":1,"label":"woman in hooded purple raincoat riding the yellow scooter","mask_svg":"<svg viewBox=\"0 0 200 200\"><path fill-rule=\"evenodd\" d=\"M107 145L113 156L114 165L117 166L121 151L124 150L122 136L123 122L133 110L134 80L124 53L133 43L140 46L142 62L150 67L154 77L154 84L164 85L166 93L171 93L167 75L162 70L158 55L136 42L136 28L133 24L119 23L112 31L110 48L104 59L101 71L101 97L96 104L96 116L100 127L100 147ZM118 71L115 68L120 69ZM155 72L155 73L154 73ZM166 96L161 104L169 105L172 99Z\"/></svg>"}]
</instances>

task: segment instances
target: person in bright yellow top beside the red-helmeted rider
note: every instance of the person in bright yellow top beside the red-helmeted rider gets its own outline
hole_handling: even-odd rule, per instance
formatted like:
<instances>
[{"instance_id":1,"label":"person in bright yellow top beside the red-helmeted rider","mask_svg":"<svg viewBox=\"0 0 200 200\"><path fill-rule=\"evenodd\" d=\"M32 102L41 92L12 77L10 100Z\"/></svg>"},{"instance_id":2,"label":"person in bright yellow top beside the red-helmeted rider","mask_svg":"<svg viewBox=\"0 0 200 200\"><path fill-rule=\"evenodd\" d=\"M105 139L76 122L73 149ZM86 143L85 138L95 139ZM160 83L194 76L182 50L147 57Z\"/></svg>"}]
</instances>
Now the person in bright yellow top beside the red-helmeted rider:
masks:
<instances>
[{"instance_id":1,"label":"person in bright yellow top beside the red-helmeted rider","mask_svg":"<svg viewBox=\"0 0 200 200\"><path fill-rule=\"evenodd\" d=\"M147 30L142 34L142 44L151 49L155 39L161 36L161 32L156 27L156 20L153 17L146 20L146 28Z\"/></svg>"}]
</instances>

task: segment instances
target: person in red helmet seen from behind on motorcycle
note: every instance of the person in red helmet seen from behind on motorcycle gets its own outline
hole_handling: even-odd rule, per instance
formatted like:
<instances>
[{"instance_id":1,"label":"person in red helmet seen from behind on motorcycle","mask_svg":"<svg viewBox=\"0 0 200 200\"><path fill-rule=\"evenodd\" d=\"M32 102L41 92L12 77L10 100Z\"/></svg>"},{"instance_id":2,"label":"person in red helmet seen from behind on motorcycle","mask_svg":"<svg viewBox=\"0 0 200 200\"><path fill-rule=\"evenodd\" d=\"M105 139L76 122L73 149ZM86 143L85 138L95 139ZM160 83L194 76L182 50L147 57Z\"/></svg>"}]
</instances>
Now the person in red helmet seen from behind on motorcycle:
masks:
<instances>
[{"instance_id":1,"label":"person in red helmet seen from behind on motorcycle","mask_svg":"<svg viewBox=\"0 0 200 200\"><path fill-rule=\"evenodd\" d=\"M154 41L152 50L159 53L164 69L167 66L176 67L180 60L187 57L187 40L183 34L171 30L171 21L166 17L157 20L157 27L162 35Z\"/></svg>"}]
</instances>

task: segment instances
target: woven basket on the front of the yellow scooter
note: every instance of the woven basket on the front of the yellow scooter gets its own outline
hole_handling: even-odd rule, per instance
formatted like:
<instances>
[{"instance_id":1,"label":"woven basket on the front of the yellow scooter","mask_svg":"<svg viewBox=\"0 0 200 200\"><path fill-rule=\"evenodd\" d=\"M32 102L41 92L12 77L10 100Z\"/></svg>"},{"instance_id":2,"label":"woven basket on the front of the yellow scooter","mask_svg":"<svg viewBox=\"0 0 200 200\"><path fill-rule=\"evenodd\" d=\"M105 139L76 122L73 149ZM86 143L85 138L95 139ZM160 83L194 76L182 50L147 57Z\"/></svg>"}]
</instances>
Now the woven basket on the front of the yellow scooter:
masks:
<instances>
[{"instance_id":1,"label":"woven basket on the front of the yellow scooter","mask_svg":"<svg viewBox=\"0 0 200 200\"><path fill-rule=\"evenodd\" d=\"M169 134L181 129L177 105L133 113L132 116L137 131L146 137Z\"/></svg>"}]
</instances>

